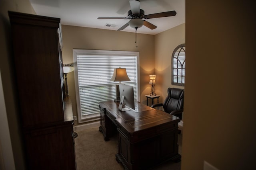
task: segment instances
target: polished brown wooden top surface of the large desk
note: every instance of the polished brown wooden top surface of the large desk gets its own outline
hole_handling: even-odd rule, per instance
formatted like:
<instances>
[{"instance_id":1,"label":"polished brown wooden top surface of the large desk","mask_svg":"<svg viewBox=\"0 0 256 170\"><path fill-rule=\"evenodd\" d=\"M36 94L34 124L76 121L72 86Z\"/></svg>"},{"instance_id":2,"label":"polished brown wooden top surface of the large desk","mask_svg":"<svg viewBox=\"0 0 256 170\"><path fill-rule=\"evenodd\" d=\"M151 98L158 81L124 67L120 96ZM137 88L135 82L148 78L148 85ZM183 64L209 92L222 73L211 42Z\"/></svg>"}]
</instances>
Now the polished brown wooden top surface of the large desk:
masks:
<instances>
[{"instance_id":1,"label":"polished brown wooden top surface of the large desk","mask_svg":"<svg viewBox=\"0 0 256 170\"><path fill-rule=\"evenodd\" d=\"M136 103L138 112L120 111L114 101L100 102L101 107L106 108L107 114L113 121L117 121L129 133L141 131L155 126L171 125L180 122L180 119L164 111L154 109L141 103Z\"/></svg>"}]
</instances>

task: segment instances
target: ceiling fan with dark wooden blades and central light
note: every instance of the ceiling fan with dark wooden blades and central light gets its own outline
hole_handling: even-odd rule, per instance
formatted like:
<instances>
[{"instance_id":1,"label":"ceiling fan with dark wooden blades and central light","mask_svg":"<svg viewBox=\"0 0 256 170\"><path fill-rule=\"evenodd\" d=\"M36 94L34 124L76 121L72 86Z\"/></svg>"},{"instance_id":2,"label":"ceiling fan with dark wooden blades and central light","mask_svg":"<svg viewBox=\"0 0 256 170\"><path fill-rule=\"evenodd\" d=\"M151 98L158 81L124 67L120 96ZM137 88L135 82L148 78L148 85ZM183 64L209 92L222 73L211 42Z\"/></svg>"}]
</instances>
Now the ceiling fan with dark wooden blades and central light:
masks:
<instances>
[{"instance_id":1,"label":"ceiling fan with dark wooden blades and central light","mask_svg":"<svg viewBox=\"0 0 256 170\"><path fill-rule=\"evenodd\" d=\"M135 28L136 30L142 25L145 25L146 27L150 29L155 29L157 26L153 25L152 23L146 21L147 19L151 18L162 18L162 17L169 17L169 16L175 16L176 11L168 11L168 12L160 12L156 14L148 14L144 15L144 10L140 9L140 1L139 0L129 0L131 10L128 11L128 17L99 17L98 19L130 19L130 21L126 24L124 24L122 27L118 29L118 31L121 31L128 27ZM146 19L146 20L142 20Z\"/></svg>"}]
</instances>

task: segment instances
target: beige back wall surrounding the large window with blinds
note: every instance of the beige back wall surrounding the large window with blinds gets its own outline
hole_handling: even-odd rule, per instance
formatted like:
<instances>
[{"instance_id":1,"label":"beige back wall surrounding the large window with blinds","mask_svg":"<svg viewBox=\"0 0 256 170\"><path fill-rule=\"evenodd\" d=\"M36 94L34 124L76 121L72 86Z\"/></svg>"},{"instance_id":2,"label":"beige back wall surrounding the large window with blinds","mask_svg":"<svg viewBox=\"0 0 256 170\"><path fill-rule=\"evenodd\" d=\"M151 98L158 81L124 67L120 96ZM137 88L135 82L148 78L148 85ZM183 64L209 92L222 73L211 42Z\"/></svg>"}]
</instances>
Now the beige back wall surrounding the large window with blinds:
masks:
<instances>
[{"instance_id":1,"label":"beige back wall surrounding the large window with blinds","mask_svg":"<svg viewBox=\"0 0 256 170\"><path fill-rule=\"evenodd\" d=\"M146 104L144 95L150 93L149 75L154 74L154 35L112 31L87 27L62 25L63 63L73 63L73 49L96 49L140 52L140 101ZM68 74L69 94L72 99L73 115L77 115L74 72Z\"/></svg>"}]
</instances>

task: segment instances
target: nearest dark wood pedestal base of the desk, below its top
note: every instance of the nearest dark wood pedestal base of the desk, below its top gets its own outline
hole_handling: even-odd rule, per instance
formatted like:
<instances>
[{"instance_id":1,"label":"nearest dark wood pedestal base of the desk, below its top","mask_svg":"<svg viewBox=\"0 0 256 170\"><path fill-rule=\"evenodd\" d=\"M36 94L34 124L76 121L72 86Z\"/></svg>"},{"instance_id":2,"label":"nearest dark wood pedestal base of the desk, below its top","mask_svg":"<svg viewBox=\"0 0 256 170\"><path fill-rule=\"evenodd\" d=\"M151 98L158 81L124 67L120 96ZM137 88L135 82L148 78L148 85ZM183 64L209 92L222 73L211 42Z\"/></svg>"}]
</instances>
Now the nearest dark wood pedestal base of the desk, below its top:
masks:
<instances>
[{"instance_id":1,"label":"nearest dark wood pedestal base of the desk, below its top","mask_svg":"<svg viewBox=\"0 0 256 170\"><path fill-rule=\"evenodd\" d=\"M181 156L178 154L177 145L178 126L176 124L171 126L168 131L164 130L165 127L156 127L133 134L134 136L131 137L118 125L116 160L122 162L126 170L148 169L168 160L179 162ZM131 138L137 141L130 142Z\"/></svg>"}]
</instances>

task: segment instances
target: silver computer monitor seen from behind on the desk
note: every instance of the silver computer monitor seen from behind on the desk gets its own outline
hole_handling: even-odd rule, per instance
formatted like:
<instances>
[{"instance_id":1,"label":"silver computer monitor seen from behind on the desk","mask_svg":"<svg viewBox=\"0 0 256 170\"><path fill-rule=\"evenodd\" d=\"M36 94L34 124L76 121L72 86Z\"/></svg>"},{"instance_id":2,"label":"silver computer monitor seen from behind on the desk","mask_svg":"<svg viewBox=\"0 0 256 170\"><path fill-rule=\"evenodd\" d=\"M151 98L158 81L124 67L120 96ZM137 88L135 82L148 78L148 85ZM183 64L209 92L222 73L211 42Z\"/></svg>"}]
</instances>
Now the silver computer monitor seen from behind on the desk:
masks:
<instances>
[{"instance_id":1,"label":"silver computer monitor seen from behind on the desk","mask_svg":"<svg viewBox=\"0 0 256 170\"><path fill-rule=\"evenodd\" d=\"M135 109L133 86L119 84L119 92L121 100L118 109L121 111Z\"/></svg>"}]
</instances>

